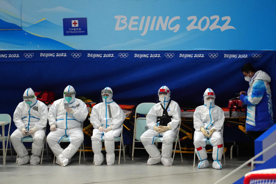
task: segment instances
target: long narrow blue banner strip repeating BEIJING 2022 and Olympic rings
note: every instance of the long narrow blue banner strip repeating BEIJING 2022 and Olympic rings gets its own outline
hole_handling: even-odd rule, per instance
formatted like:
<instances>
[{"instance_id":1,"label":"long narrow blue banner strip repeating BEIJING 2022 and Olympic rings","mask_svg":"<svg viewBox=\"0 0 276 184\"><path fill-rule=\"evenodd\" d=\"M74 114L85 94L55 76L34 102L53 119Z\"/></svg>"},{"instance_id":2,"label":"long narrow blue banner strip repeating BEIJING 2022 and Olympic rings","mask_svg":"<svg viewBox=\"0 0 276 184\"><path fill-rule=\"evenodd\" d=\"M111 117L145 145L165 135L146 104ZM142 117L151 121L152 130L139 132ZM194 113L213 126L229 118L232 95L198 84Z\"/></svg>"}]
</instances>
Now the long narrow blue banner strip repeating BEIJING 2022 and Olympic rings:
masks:
<instances>
[{"instance_id":1,"label":"long narrow blue banner strip repeating BEIJING 2022 and Olympic rings","mask_svg":"<svg viewBox=\"0 0 276 184\"><path fill-rule=\"evenodd\" d=\"M0 62L86 61L86 62L244 62L266 61L271 51L88 51L26 50L0 51Z\"/></svg>"}]
</instances>

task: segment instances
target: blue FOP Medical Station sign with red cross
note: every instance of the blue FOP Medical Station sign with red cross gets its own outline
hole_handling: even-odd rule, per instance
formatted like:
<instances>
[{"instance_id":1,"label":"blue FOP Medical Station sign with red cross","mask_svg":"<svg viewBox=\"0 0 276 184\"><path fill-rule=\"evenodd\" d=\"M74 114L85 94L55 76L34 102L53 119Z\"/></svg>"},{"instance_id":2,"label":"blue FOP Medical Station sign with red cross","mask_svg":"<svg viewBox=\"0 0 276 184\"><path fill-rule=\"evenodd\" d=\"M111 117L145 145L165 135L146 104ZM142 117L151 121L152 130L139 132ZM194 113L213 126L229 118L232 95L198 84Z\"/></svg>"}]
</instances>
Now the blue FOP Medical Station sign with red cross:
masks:
<instances>
[{"instance_id":1,"label":"blue FOP Medical Station sign with red cross","mask_svg":"<svg viewBox=\"0 0 276 184\"><path fill-rule=\"evenodd\" d=\"M87 35L86 18L63 18L63 35Z\"/></svg>"}]
</instances>

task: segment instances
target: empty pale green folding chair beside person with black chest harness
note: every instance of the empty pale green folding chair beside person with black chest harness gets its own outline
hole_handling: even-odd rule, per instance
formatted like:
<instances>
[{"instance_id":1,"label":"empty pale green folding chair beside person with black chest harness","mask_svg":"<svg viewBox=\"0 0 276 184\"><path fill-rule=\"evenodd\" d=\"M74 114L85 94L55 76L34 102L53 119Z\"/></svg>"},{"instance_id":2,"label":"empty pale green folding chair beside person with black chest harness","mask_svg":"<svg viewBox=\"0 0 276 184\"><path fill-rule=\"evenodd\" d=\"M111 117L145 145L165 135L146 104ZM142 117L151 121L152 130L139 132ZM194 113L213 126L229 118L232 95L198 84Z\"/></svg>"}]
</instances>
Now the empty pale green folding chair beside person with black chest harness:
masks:
<instances>
[{"instance_id":1,"label":"empty pale green folding chair beside person with black chest harness","mask_svg":"<svg viewBox=\"0 0 276 184\"><path fill-rule=\"evenodd\" d=\"M135 120L134 120L134 131L133 131L133 143L132 143L132 155L131 160L134 157L134 149L145 149L143 147L135 147L136 142L141 142L141 135L147 131L146 118L137 118L138 114L148 114L150 109L155 105L155 103L141 103L136 107L135 110Z\"/></svg>"}]
</instances>

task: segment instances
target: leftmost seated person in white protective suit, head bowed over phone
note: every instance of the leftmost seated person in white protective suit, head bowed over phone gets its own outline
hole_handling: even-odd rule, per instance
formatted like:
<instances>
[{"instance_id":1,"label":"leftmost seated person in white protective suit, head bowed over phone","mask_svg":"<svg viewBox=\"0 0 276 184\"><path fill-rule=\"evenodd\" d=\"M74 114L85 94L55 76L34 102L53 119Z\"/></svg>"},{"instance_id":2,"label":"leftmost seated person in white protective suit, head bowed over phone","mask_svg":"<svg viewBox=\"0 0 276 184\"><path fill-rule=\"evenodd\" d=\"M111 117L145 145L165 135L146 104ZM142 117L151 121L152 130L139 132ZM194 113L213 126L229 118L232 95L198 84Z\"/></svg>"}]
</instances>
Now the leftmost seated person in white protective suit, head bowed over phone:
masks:
<instances>
[{"instance_id":1,"label":"leftmost seated person in white protective suit, head bowed over phone","mask_svg":"<svg viewBox=\"0 0 276 184\"><path fill-rule=\"evenodd\" d=\"M37 100L34 91L31 88L25 90L23 101L18 104L14 111L14 123L17 129L11 134L11 143L18 154L17 164L31 165L39 164L40 154L43 147L47 124L47 107L43 102ZM32 155L28 155L26 147L21 139L31 136Z\"/></svg>"}]
</instances>

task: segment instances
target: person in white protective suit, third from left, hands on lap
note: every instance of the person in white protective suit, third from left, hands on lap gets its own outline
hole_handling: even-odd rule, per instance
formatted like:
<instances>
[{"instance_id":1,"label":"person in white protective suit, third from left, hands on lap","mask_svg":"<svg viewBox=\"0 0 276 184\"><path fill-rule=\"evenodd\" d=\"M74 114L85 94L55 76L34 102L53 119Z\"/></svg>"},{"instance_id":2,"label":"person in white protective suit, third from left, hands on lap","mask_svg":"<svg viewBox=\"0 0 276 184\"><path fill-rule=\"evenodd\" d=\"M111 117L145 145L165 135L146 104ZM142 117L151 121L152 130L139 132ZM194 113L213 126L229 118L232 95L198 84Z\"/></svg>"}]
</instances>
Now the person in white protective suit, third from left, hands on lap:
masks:
<instances>
[{"instance_id":1,"label":"person in white protective suit, third from left, hands on lap","mask_svg":"<svg viewBox=\"0 0 276 184\"><path fill-rule=\"evenodd\" d=\"M126 115L113 101L113 92L110 87L101 90L101 96L103 102L95 105L90 114L90 122L94 127L91 137L94 165L98 166L104 162L104 156L101 153L101 140L104 140L106 162L108 166L111 166L115 161L114 138L120 136Z\"/></svg>"}]
</instances>

